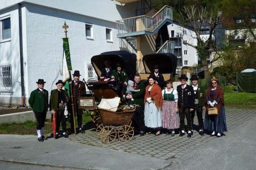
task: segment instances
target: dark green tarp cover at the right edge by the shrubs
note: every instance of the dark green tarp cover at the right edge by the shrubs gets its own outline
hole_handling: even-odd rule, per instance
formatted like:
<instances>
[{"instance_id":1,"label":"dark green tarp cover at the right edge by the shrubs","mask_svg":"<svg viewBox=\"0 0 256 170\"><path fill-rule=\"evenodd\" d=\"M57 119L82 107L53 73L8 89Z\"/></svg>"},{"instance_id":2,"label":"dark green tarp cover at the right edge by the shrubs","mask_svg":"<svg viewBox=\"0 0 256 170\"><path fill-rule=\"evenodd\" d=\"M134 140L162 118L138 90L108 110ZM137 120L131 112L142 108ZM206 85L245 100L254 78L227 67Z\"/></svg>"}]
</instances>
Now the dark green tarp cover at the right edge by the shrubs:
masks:
<instances>
[{"instance_id":1,"label":"dark green tarp cover at the right edge by the shrubs","mask_svg":"<svg viewBox=\"0 0 256 170\"><path fill-rule=\"evenodd\" d=\"M237 73L237 90L256 92L256 72Z\"/></svg>"}]
</instances>

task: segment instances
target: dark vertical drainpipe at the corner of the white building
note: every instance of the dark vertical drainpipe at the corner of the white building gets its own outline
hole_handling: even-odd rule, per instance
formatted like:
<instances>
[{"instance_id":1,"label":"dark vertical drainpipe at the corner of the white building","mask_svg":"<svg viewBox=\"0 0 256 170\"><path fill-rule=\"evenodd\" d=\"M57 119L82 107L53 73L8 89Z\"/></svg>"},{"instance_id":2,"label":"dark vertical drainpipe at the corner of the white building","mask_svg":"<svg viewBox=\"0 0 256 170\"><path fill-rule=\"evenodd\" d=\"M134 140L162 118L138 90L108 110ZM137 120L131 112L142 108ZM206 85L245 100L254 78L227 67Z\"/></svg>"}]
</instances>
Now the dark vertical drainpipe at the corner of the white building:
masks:
<instances>
[{"instance_id":1,"label":"dark vertical drainpipe at the corner of the white building","mask_svg":"<svg viewBox=\"0 0 256 170\"><path fill-rule=\"evenodd\" d=\"M22 107L26 106L25 88L24 88L24 68L23 68L23 39L22 39L22 4L18 3L19 12L19 58L20 58L20 86L22 90Z\"/></svg>"}]
</instances>

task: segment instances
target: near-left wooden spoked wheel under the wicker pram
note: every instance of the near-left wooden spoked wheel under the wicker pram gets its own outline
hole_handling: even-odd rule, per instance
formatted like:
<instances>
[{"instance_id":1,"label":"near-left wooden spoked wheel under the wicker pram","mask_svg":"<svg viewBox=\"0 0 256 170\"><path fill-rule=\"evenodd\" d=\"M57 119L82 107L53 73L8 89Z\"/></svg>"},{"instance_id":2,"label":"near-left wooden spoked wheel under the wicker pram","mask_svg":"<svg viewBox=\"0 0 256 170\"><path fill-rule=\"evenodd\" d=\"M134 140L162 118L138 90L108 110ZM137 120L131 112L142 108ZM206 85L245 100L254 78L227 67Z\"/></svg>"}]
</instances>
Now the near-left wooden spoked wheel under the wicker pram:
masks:
<instances>
[{"instance_id":1,"label":"near-left wooden spoked wheel under the wicker pram","mask_svg":"<svg viewBox=\"0 0 256 170\"><path fill-rule=\"evenodd\" d=\"M103 143L112 143L117 138L117 131L113 126L104 126L100 132L100 139Z\"/></svg>"}]
</instances>

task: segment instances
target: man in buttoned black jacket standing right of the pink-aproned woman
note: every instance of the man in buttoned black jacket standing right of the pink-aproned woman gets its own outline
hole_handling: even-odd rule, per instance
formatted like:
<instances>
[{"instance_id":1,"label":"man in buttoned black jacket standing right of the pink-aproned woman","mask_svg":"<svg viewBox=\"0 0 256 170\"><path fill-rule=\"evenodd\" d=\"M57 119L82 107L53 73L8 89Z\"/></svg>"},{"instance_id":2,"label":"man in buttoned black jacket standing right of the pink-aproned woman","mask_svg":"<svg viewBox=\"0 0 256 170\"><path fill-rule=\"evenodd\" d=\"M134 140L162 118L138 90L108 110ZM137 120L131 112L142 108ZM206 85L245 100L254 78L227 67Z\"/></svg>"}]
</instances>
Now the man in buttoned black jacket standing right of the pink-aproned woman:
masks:
<instances>
[{"instance_id":1,"label":"man in buttoned black jacket standing right of the pink-aproned woman","mask_svg":"<svg viewBox=\"0 0 256 170\"><path fill-rule=\"evenodd\" d=\"M189 86L186 82L187 76L182 74L179 78L181 84L177 86L178 92L178 107L180 116L180 137L185 135L185 117L188 124L188 138L191 137L191 112L195 108L195 94L193 87Z\"/></svg>"}]
</instances>

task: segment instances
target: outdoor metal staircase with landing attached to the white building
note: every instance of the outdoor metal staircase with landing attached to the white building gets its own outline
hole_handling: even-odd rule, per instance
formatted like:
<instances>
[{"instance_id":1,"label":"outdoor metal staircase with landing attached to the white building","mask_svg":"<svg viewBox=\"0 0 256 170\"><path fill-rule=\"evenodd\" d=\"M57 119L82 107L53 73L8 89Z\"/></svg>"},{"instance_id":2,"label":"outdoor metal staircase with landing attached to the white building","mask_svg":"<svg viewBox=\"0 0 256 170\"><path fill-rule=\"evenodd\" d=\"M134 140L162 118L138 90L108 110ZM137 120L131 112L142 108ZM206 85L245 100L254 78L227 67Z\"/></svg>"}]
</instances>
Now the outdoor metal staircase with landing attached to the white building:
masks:
<instances>
[{"instance_id":1,"label":"outdoor metal staircase with landing attached to the white building","mask_svg":"<svg viewBox=\"0 0 256 170\"><path fill-rule=\"evenodd\" d=\"M117 20L117 37L125 39L137 52L137 37L154 35L164 24L172 23L172 7L164 6L154 16L136 16Z\"/></svg>"}]
</instances>

